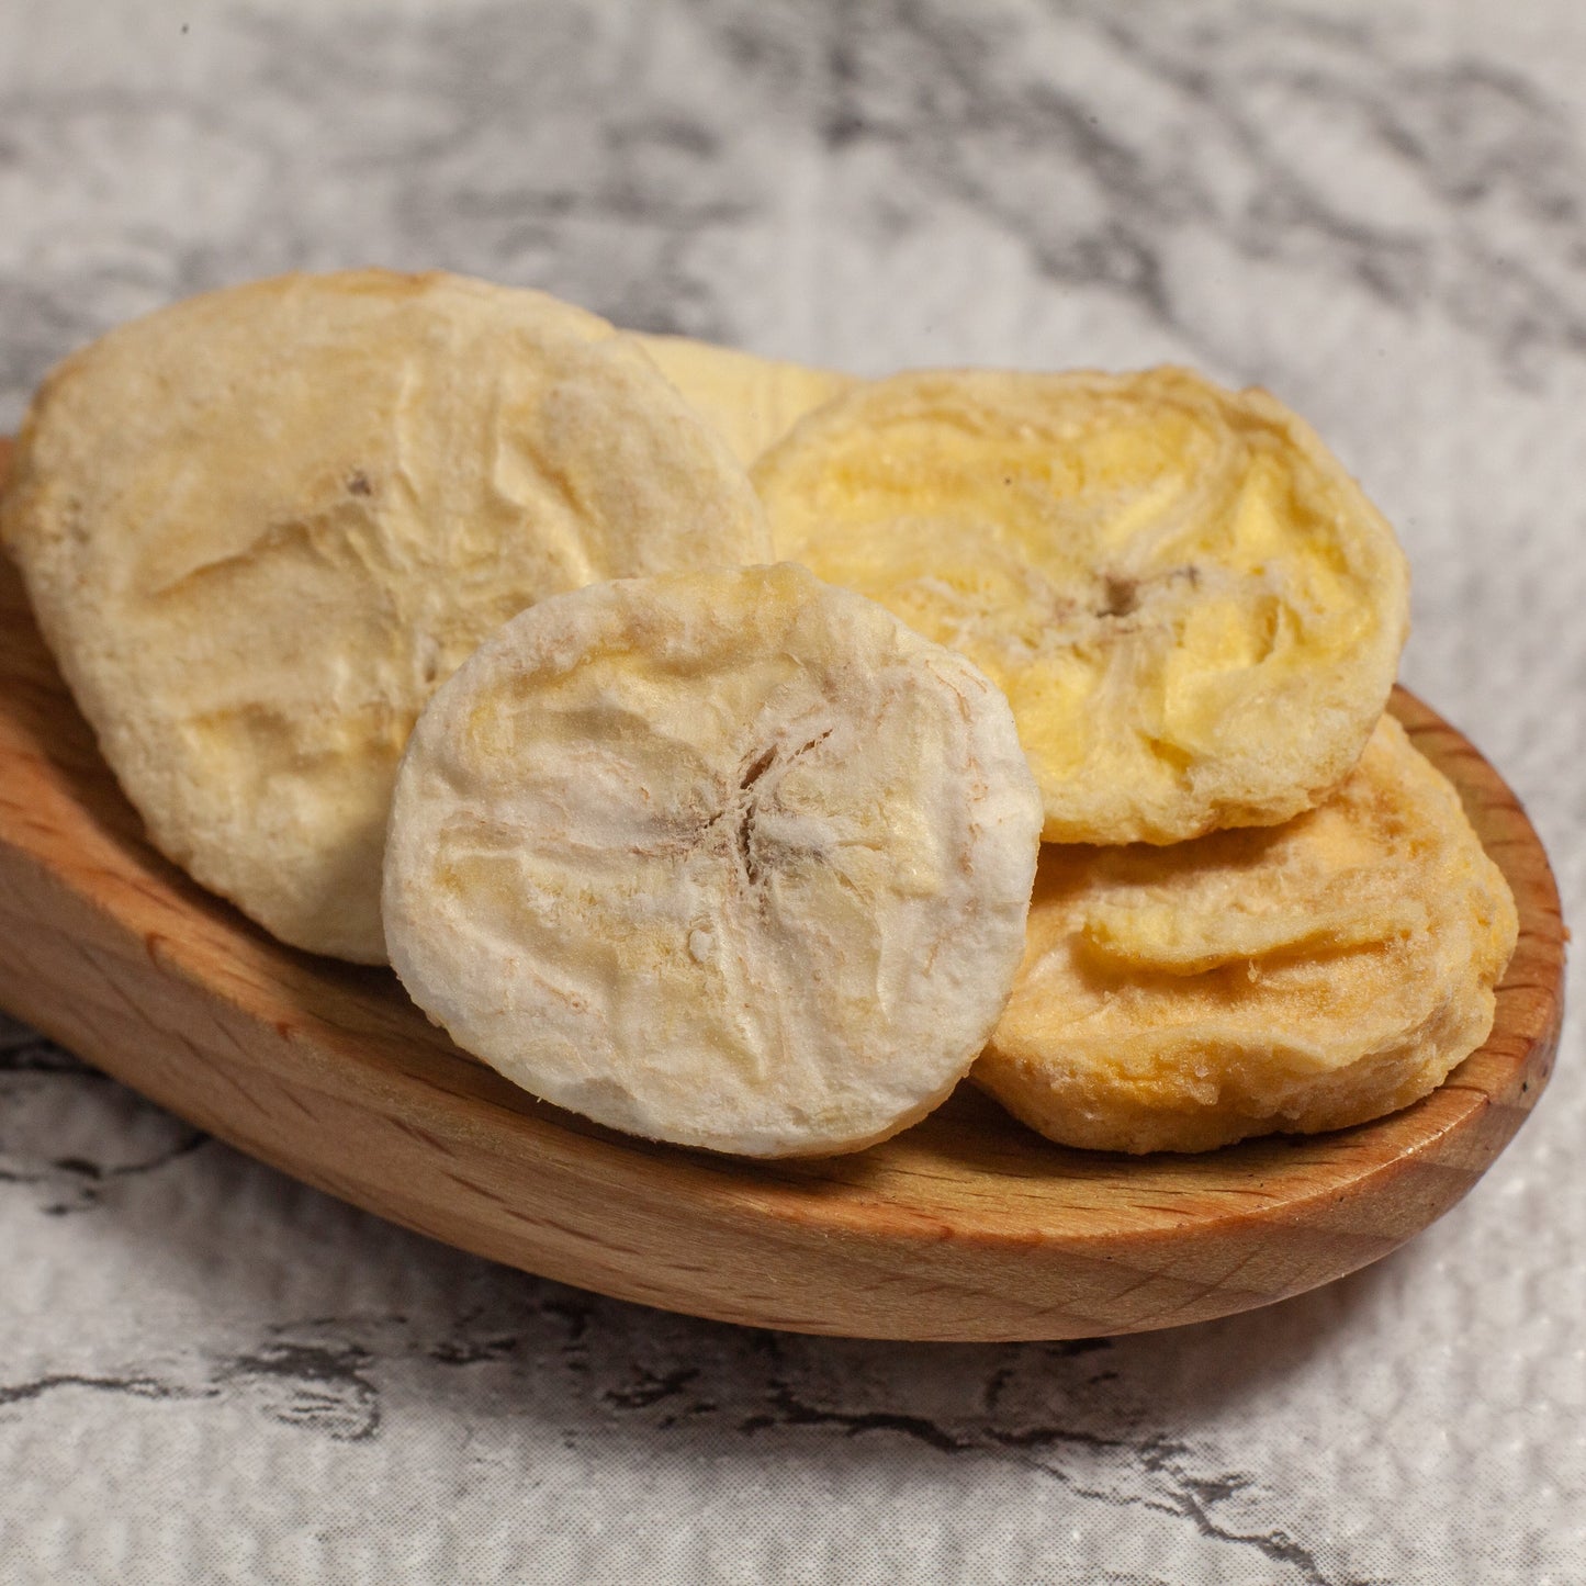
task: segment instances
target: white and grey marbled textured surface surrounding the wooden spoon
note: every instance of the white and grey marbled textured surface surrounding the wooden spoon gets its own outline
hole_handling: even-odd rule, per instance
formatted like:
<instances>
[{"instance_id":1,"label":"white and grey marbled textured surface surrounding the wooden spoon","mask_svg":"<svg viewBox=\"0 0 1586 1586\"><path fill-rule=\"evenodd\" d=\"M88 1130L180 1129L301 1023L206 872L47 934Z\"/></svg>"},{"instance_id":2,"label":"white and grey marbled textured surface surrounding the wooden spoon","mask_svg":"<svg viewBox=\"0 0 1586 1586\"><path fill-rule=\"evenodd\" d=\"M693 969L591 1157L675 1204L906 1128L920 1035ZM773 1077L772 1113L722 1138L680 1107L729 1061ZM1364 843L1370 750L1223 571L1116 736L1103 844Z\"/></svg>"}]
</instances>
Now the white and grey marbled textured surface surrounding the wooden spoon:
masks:
<instances>
[{"instance_id":1,"label":"white and grey marbled textured surface surrounding the wooden spoon","mask_svg":"<svg viewBox=\"0 0 1586 1586\"><path fill-rule=\"evenodd\" d=\"M1583 67L1573 0L8 0L0 427L130 314L365 262L861 373L1261 381L1580 918ZM1581 1044L1373 1269L971 1348L492 1267L0 1025L0 1580L1580 1583Z\"/></svg>"}]
</instances>

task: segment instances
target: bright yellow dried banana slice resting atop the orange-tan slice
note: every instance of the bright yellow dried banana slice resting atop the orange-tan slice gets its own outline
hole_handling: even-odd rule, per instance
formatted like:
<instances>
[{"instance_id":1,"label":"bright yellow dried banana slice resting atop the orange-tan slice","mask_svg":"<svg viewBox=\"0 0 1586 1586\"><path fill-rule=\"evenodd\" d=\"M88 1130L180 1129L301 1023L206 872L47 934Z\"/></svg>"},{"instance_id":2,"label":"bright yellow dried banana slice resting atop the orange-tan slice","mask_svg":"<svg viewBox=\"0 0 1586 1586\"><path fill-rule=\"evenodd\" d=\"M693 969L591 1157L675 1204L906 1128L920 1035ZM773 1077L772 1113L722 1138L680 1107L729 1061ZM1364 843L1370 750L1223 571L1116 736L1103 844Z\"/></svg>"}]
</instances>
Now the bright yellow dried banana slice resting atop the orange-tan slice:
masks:
<instances>
[{"instance_id":1,"label":"bright yellow dried banana slice resting atop the orange-tan slice","mask_svg":"<svg viewBox=\"0 0 1586 1586\"><path fill-rule=\"evenodd\" d=\"M1048 842L1308 809L1393 687L1407 573L1313 431L1183 370L861 385L760 458L777 555L1002 685Z\"/></svg>"}]
</instances>

